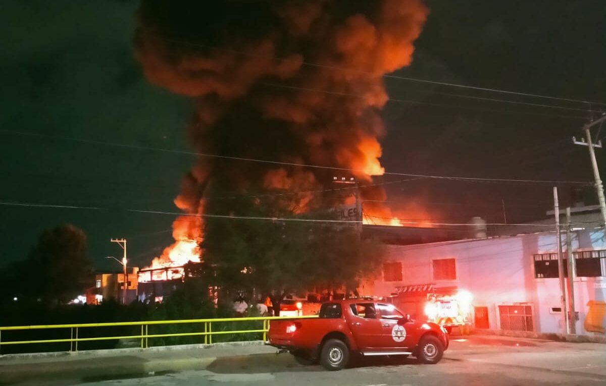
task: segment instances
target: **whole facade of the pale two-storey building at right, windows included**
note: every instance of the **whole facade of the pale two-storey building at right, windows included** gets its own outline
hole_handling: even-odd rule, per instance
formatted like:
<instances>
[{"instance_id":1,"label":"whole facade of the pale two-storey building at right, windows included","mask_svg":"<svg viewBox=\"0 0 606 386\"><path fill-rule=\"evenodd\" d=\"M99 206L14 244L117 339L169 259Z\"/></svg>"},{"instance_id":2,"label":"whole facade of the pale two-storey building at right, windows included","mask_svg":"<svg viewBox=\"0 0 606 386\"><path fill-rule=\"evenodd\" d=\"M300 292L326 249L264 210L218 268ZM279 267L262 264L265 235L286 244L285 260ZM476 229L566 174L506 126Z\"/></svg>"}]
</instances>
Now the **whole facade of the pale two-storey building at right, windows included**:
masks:
<instances>
[{"instance_id":1,"label":"whole facade of the pale two-storey building at right, windows included","mask_svg":"<svg viewBox=\"0 0 606 386\"><path fill-rule=\"evenodd\" d=\"M386 246L380 277L364 289L393 295L430 283L473 294L476 328L563 333L555 232ZM606 239L603 230L571 232L576 332L604 335ZM565 252L565 235L562 235ZM567 270L565 270L566 272Z\"/></svg>"}]
</instances>

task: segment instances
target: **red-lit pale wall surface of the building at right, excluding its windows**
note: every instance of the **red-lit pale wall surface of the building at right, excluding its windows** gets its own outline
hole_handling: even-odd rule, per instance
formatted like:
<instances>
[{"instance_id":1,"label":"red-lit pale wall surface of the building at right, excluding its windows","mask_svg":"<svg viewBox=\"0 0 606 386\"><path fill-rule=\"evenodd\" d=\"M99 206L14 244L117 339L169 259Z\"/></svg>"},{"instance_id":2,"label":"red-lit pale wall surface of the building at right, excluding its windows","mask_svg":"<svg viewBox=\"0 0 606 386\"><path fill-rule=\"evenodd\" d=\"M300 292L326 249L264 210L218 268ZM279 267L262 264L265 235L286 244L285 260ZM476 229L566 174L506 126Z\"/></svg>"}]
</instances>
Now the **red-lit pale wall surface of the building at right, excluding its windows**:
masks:
<instances>
[{"instance_id":1,"label":"red-lit pale wall surface of the building at right, excluding its windows","mask_svg":"<svg viewBox=\"0 0 606 386\"><path fill-rule=\"evenodd\" d=\"M579 232L573 235L573 250L604 249L604 232ZM580 240L580 242L579 242ZM562 237L562 241L565 241ZM528 303L533 307L534 330L561 333L561 314L550 313L560 306L557 278L534 278L533 254L557 252L554 233L525 234L483 240L461 240L445 243L387 246L387 260L401 261L402 281L376 280L365 292L390 295L398 286L433 283L435 286L457 286L474 295L474 306L488 307L490 329L499 329L499 304ZM456 259L456 280L433 279L432 260ZM576 310L580 313L577 331L585 333L587 302L606 298L606 278L576 278ZM604 324L603 321L603 325Z\"/></svg>"}]
</instances>

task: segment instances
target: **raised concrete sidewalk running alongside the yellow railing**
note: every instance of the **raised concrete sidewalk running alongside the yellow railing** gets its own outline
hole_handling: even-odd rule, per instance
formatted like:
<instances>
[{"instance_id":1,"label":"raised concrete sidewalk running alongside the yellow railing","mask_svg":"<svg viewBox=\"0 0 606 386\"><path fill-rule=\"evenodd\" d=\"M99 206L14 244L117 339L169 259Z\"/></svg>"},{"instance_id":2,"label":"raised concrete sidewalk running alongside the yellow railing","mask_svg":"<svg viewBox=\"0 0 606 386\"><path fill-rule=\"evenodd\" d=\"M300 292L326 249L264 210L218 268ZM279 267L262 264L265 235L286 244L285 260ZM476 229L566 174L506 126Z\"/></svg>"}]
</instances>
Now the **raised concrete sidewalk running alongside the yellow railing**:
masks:
<instances>
[{"instance_id":1,"label":"raised concrete sidewalk running alongside the yellow railing","mask_svg":"<svg viewBox=\"0 0 606 386\"><path fill-rule=\"evenodd\" d=\"M0 385L49 379L95 381L184 370L204 370L218 358L275 353L261 341L0 357Z\"/></svg>"}]
</instances>

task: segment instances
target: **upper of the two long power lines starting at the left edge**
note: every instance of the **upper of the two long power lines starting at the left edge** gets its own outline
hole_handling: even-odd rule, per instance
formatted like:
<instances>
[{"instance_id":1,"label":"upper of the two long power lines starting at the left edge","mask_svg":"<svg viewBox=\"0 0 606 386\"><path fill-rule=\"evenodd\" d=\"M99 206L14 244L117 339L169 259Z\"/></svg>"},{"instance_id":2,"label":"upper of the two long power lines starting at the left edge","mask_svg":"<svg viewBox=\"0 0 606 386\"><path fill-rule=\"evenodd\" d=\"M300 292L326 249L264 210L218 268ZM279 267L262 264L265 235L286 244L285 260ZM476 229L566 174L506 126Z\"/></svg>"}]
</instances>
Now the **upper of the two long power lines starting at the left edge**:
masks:
<instances>
[{"instance_id":1,"label":"upper of the two long power lines starting at the left edge","mask_svg":"<svg viewBox=\"0 0 606 386\"><path fill-rule=\"evenodd\" d=\"M12 130L5 130L5 129L0 129L0 132L2 132L4 134L67 140L67 141L71 141L71 142L87 143L87 144L91 144L91 145L116 146L116 147L126 148L126 149L162 151L162 152L168 152L168 153L173 153L173 154L194 155L194 156L198 156L198 157L211 157L211 158L230 159L230 160L237 160L237 161L268 163L270 165L299 166L302 168L339 170L339 171L357 172L357 173L361 173L361 174L367 174L364 170L361 170L361 169L339 168L337 166L312 165L312 164L307 164L307 163L296 163L296 162L280 162L280 161L260 160L260 159L253 159L253 158L247 158L247 157L233 157L230 155L208 154L208 153L192 152L192 151L184 151L184 150L176 150L176 149L152 148L150 146L129 145L129 144L125 144L125 143L112 143L112 142L79 139L79 138L72 138L72 137L50 136L48 134L39 134L39 133L24 132L24 131L12 131ZM399 175L402 177L419 177L419 178L431 178L431 179L436 179L436 180L457 180L457 181L467 181L467 182L487 181L487 182L510 182L510 183L548 183L548 184L593 185L593 183L591 183L591 182L582 182L582 181L523 180L523 179L517 179L517 178L457 177L457 176L446 176L446 175L412 174L412 173L402 173L402 172L384 172L383 175Z\"/></svg>"}]
</instances>

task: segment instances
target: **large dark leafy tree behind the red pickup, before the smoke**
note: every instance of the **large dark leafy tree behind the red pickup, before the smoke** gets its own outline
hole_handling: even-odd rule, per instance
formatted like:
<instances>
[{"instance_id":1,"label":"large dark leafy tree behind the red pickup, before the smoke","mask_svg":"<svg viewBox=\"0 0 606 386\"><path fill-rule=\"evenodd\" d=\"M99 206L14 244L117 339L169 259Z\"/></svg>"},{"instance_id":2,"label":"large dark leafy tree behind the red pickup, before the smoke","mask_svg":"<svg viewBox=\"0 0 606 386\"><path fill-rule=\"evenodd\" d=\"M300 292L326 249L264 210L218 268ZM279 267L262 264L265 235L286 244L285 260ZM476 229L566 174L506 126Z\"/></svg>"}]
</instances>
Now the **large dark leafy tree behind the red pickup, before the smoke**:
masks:
<instances>
[{"instance_id":1,"label":"large dark leafy tree behind the red pickup, before the smoke","mask_svg":"<svg viewBox=\"0 0 606 386\"><path fill-rule=\"evenodd\" d=\"M256 290L264 298L269 296L279 310L288 293L355 292L361 280L378 272L382 263L379 244L362 240L355 228L305 221L330 220L330 214L301 215L280 205L261 206L259 201L243 212L301 221L208 218L202 248L205 261L216 269L216 285L224 296Z\"/></svg>"}]
</instances>

